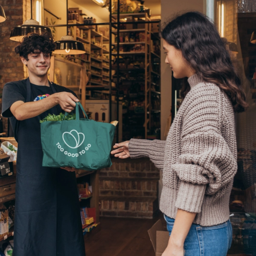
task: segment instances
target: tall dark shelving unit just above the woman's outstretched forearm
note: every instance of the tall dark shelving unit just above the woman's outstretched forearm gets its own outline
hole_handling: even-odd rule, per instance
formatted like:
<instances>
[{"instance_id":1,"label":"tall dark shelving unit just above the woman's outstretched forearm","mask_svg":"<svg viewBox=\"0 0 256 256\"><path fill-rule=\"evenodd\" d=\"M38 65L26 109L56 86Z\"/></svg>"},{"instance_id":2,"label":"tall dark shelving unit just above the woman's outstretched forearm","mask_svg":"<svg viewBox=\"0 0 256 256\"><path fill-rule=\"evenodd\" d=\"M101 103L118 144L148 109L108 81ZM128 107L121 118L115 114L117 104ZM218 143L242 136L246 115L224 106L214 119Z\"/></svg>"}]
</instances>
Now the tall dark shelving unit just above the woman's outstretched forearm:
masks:
<instances>
[{"instance_id":1,"label":"tall dark shelving unit just above the woman's outstretched forearm","mask_svg":"<svg viewBox=\"0 0 256 256\"><path fill-rule=\"evenodd\" d=\"M116 14L112 18L118 22ZM150 21L147 13L120 14L121 19L133 23L120 22L112 29L112 55L119 58L119 66L112 66L119 78L113 77L113 81L124 105L122 140L160 139L160 47L159 52L155 47L160 46L160 38L150 24L136 24L137 19Z\"/></svg>"}]
</instances>

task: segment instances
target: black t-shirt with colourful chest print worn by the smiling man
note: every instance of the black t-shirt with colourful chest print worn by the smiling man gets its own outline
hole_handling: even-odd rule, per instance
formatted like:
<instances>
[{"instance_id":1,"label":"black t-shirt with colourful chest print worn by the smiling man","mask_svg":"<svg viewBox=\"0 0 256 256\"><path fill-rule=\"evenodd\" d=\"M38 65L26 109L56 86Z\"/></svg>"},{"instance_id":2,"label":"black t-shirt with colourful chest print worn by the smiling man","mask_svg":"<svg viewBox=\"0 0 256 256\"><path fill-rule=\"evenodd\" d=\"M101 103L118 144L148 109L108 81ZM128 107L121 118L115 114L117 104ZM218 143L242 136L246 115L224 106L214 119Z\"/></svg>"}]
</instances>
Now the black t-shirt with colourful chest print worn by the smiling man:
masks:
<instances>
[{"instance_id":1,"label":"black t-shirt with colourful chest print worn by the smiling man","mask_svg":"<svg viewBox=\"0 0 256 256\"><path fill-rule=\"evenodd\" d=\"M66 87L59 86L58 84L52 83L56 91L59 92L69 92L76 96L74 92ZM51 87L48 86L37 86L31 83L31 95L34 101L44 99L53 94ZM8 82L5 84L3 89L3 103L2 103L2 115L3 117L13 117L10 111L11 105L16 101L26 101L27 97L27 87L26 79ZM77 97L77 96L76 96Z\"/></svg>"}]
</instances>

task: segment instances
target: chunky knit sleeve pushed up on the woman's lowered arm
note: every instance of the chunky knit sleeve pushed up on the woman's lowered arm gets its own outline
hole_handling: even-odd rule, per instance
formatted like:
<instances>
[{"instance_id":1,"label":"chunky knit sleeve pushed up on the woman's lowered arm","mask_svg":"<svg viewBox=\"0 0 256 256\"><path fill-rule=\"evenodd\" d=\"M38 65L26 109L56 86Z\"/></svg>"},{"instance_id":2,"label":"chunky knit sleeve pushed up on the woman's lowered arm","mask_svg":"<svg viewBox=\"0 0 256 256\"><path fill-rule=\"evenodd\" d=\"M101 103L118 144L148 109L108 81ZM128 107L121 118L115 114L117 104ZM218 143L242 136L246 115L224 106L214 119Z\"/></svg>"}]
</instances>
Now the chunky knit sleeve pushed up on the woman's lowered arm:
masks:
<instances>
[{"instance_id":1,"label":"chunky knit sleeve pushed up on the woman's lowered arm","mask_svg":"<svg viewBox=\"0 0 256 256\"><path fill-rule=\"evenodd\" d=\"M220 89L193 90L183 117L181 154L172 169L181 180L175 206L200 212L204 195L214 195L233 179L237 161L221 135Z\"/></svg>"}]
</instances>

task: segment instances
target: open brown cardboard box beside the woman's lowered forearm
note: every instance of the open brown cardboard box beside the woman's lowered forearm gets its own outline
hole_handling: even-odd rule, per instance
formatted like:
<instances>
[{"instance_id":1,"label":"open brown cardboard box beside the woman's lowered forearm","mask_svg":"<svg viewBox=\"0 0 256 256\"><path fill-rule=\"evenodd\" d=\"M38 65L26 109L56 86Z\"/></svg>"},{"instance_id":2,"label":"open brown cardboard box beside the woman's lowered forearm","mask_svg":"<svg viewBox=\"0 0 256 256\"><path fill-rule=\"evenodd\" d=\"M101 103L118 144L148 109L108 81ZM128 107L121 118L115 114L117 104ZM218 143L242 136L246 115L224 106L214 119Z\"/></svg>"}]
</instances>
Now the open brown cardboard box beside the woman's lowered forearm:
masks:
<instances>
[{"instance_id":1,"label":"open brown cardboard box beside the woman's lowered forearm","mask_svg":"<svg viewBox=\"0 0 256 256\"><path fill-rule=\"evenodd\" d=\"M148 234L156 256L161 256L169 241L169 232L163 227L161 220L158 220L152 228L148 230Z\"/></svg>"}]
</instances>

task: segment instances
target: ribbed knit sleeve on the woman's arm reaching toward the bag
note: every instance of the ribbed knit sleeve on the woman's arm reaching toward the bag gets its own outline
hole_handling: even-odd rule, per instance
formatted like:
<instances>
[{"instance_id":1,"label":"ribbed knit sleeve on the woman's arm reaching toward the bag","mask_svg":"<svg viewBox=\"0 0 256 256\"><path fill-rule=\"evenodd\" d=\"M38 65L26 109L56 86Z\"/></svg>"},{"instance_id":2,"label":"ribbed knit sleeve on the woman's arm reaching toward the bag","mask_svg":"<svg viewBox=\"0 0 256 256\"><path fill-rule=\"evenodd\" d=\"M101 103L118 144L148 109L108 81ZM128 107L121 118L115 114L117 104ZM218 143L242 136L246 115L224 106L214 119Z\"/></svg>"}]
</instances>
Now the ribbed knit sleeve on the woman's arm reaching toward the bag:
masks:
<instances>
[{"instance_id":1,"label":"ribbed knit sleeve on the woman's arm reaching toward the bag","mask_svg":"<svg viewBox=\"0 0 256 256\"><path fill-rule=\"evenodd\" d=\"M163 169L165 144L165 140L131 139L129 153L131 158L149 157L156 167Z\"/></svg>"}]
</instances>

